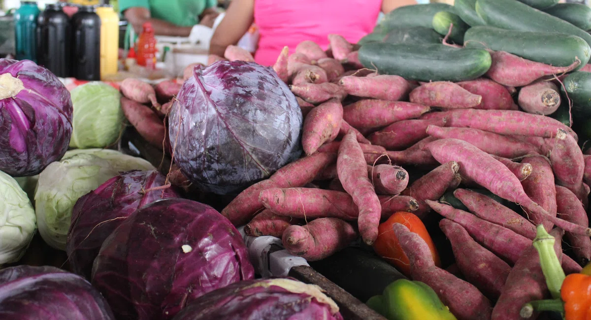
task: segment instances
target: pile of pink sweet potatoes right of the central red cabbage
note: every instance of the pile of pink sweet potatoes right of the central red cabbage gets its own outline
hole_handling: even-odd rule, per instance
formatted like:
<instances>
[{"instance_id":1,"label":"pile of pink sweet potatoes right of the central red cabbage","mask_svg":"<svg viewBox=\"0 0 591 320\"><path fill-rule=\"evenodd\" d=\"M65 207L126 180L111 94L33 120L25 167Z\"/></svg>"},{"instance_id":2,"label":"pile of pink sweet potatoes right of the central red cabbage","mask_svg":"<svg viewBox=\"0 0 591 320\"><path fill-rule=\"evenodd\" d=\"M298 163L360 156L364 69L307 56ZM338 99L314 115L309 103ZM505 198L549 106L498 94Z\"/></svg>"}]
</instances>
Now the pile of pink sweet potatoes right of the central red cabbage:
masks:
<instances>
[{"instance_id":1,"label":"pile of pink sweet potatoes right of the central red cabbage","mask_svg":"<svg viewBox=\"0 0 591 320\"><path fill-rule=\"evenodd\" d=\"M371 244L396 211L439 221L453 274L433 265L421 237L400 224L394 233L411 278L435 289L458 319L520 319L524 302L548 298L543 277L530 272L539 269L538 224L558 244L565 234L567 274L589 262L591 155L547 116L560 105L560 83L543 78L572 68L498 51L480 79L417 83L365 69L356 45L329 41L326 51L311 41L291 55L286 47L273 66L300 103L304 156L239 194L222 211L232 223L319 260L358 238ZM251 59L236 51L226 58ZM467 209L437 202L446 191Z\"/></svg>"}]
</instances>

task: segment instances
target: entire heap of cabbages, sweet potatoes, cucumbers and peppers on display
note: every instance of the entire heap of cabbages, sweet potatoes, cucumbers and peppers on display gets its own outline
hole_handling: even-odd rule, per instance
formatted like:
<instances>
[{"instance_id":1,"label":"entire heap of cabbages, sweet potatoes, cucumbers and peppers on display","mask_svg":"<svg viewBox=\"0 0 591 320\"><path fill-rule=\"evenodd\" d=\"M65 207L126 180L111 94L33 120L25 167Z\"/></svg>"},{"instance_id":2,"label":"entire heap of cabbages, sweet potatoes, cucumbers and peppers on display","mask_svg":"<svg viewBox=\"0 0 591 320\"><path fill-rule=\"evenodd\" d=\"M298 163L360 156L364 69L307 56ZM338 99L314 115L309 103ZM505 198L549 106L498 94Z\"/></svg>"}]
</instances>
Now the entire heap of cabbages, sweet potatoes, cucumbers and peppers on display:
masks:
<instances>
[{"instance_id":1,"label":"entire heap of cabbages, sweet potatoes, cucumbers and peppers on display","mask_svg":"<svg viewBox=\"0 0 591 320\"><path fill-rule=\"evenodd\" d=\"M343 319L257 279L243 230L307 262L375 252L407 277L363 299L387 319L584 319L591 8L557 2L403 6L272 67L230 45L183 84L68 92L0 60L0 318ZM126 122L168 168L113 150ZM18 264L37 231L67 270Z\"/></svg>"}]
</instances>

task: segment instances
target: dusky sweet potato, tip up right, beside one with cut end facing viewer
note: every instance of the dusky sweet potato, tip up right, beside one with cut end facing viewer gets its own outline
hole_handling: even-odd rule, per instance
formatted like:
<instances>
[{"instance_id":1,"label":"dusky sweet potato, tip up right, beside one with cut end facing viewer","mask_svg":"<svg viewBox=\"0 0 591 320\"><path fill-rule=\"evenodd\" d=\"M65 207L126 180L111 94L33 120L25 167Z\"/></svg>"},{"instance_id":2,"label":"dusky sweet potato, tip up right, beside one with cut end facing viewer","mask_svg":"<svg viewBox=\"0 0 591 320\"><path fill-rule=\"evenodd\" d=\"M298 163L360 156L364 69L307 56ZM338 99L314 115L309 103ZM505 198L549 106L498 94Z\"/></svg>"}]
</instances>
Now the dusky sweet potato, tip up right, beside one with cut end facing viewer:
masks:
<instances>
[{"instance_id":1,"label":"dusky sweet potato, tip up right, beside one with cut end facing viewer","mask_svg":"<svg viewBox=\"0 0 591 320\"><path fill-rule=\"evenodd\" d=\"M402 195L408 195L418 201L419 208L414 214L423 219L430 211L430 207L425 203L426 200L437 200L450 186L457 187L457 184L460 183L460 178L457 175L459 169L457 162L447 162L413 182L410 187L402 191Z\"/></svg>"}]
</instances>

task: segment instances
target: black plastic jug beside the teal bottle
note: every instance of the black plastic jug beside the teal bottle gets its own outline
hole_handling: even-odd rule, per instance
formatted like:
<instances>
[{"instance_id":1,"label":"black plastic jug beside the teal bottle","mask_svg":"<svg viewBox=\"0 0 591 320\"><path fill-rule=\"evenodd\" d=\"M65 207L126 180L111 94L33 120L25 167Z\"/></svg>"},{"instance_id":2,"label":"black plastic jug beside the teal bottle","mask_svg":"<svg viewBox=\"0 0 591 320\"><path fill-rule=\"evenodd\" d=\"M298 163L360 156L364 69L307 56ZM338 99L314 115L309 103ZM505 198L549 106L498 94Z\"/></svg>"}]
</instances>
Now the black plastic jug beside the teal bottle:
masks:
<instances>
[{"instance_id":1,"label":"black plastic jug beside the teal bottle","mask_svg":"<svg viewBox=\"0 0 591 320\"><path fill-rule=\"evenodd\" d=\"M68 77L71 34L70 19L61 6L48 4L37 18L37 64Z\"/></svg>"}]
</instances>

